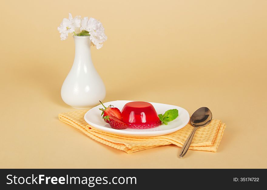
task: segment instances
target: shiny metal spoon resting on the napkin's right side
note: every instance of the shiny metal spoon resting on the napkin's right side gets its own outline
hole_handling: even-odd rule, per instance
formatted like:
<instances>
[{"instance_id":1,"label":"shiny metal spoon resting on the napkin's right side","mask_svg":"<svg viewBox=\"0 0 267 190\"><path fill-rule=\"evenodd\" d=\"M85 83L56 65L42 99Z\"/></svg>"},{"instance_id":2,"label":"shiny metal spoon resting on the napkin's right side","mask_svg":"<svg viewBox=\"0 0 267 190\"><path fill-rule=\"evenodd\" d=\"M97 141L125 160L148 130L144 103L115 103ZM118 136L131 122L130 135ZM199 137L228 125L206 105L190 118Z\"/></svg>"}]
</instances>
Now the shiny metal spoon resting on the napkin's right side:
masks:
<instances>
[{"instance_id":1,"label":"shiny metal spoon resting on the napkin's right side","mask_svg":"<svg viewBox=\"0 0 267 190\"><path fill-rule=\"evenodd\" d=\"M194 112L194 114L190 118L190 123L194 127L194 129L192 130L191 134L189 135L181 149L180 158L182 158L187 153L188 148L194 137L195 131L200 127L208 125L211 122L211 119L211 110L207 107L198 108L198 110Z\"/></svg>"}]
</instances>

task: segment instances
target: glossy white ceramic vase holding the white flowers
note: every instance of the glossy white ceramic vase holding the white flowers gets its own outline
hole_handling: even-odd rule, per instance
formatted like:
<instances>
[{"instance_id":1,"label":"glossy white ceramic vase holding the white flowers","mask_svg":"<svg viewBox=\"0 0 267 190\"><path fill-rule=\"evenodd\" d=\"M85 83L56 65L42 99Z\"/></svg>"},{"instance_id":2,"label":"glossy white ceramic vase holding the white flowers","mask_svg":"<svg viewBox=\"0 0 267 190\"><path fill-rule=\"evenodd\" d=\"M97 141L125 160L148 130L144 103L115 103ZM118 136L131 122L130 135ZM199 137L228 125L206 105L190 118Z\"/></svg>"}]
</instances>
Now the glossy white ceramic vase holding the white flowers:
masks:
<instances>
[{"instance_id":1,"label":"glossy white ceramic vase holding the white flowers","mask_svg":"<svg viewBox=\"0 0 267 190\"><path fill-rule=\"evenodd\" d=\"M62 100L77 109L88 109L106 96L105 85L92 59L89 36L73 36L75 57L71 70L61 87Z\"/></svg>"}]
</instances>

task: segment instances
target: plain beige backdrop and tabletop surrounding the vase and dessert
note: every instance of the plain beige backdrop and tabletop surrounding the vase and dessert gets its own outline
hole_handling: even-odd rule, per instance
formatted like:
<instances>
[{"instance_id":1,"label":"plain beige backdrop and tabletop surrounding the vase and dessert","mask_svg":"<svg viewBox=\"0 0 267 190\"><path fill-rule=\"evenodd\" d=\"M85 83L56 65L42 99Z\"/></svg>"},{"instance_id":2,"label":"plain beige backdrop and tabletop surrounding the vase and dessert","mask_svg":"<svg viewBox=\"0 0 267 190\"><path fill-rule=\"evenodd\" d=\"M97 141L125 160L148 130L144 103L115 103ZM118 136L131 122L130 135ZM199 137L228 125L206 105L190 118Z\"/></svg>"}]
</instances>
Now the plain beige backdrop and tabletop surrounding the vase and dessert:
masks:
<instances>
[{"instance_id":1,"label":"plain beige backdrop and tabletop surrounding the vase and dessert","mask_svg":"<svg viewBox=\"0 0 267 190\"><path fill-rule=\"evenodd\" d=\"M0 168L267 168L267 1L2 1ZM92 59L104 101L207 106L227 124L217 153L167 145L127 154L58 120L74 58L68 12L103 23ZM141 85L145 81L146 85Z\"/></svg>"}]
</instances>

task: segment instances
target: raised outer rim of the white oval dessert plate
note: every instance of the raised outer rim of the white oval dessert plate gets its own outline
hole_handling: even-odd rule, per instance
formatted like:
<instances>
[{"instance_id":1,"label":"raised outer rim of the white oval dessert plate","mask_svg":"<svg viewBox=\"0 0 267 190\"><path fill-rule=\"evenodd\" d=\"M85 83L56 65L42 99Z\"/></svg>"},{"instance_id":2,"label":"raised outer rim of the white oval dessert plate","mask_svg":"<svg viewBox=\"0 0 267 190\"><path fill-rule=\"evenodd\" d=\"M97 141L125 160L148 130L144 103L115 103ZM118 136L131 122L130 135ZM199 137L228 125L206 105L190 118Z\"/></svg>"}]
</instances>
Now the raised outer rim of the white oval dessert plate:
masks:
<instances>
[{"instance_id":1,"label":"raised outer rim of the white oval dessert plate","mask_svg":"<svg viewBox=\"0 0 267 190\"><path fill-rule=\"evenodd\" d=\"M109 102L105 102L105 103L110 103L110 102L115 102L115 101L128 101L128 102L134 102L136 100L113 100L113 101L109 101ZM153 105L153 103L157 103L157 102L148 102L148 103L151 103ZM171 105L171 104L166 104L166 103L158 103L158 104L164 104L164 105L169 105L169 106L176 106L176 105ZM95 107L97 107L99 105L96 105ZM95 108L93 107L93 108ZM183 107L180 107L180 106L176 106L176 107L179 107L181 109L184 109ZM93 108L91 108L90 110L92 110ZM86 119L86 115L90 112L90 110L88 110L85 114L84 114L84 120L86 121L86 123L88 123L89 125L91 125L92 127L95 127L94 125L97 125L97 124L94 124L92 122L90 122L89 120ZM188 113L188 111L186 109L185 110L185 114L187 115L187 119L188 121L186 122L186 124L184 124L184 126L180 126L180 127L175 127L175 128L172 128L172 129L167 129L167 130L163 130L163 131L138 131L136 133L136 131L124 131L124 130L119 130L121 132L118 131L118 129L113 129L113 128L107 128L107 127L104 127L104 129L102 129L103 126L100 126L100 125L97 125L99 127L95 127L99 130L102 130L102 131L105 131L105 132L109 132L109 133L112 133L112 134L119 134L119 135L126 135L126 136L143 136L143 137L153 137L153 136L161 136L161 135L166 135L166 134L170 134L170 133L173 133L175 131L178 131L180 130L181 128L185 127L189 120L190 120L190 115ZM92 125L93 124L93 125ZM117 132L118 131L118 132ZM123 131L123 132L122 132ZM134 134L133 134L134 133ZM147 134L149 133L149 134Z\"/></svg>"}]
</instances>

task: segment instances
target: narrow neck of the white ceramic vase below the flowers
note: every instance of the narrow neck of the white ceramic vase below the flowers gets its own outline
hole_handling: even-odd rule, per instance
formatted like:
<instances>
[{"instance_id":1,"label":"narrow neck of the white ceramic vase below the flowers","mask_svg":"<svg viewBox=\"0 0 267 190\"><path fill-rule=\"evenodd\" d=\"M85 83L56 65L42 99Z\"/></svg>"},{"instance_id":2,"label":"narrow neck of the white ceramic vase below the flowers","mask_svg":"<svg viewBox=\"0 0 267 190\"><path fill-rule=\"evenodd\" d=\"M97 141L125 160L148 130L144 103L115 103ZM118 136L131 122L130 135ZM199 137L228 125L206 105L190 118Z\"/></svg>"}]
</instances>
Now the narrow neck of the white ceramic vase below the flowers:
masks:
<instances>
[{"instance_id":1,"label":"narrow neck of the white ceramic vase below the flowers","mask_svg":"<svg viewBox=\"0 0 267 190\"><path fill-rule=\"evenodd\" d=\"M91 40L89 36L73 36L75 42L74 64L92 65L91 59Z\"/></svg>"}]
</instances>

